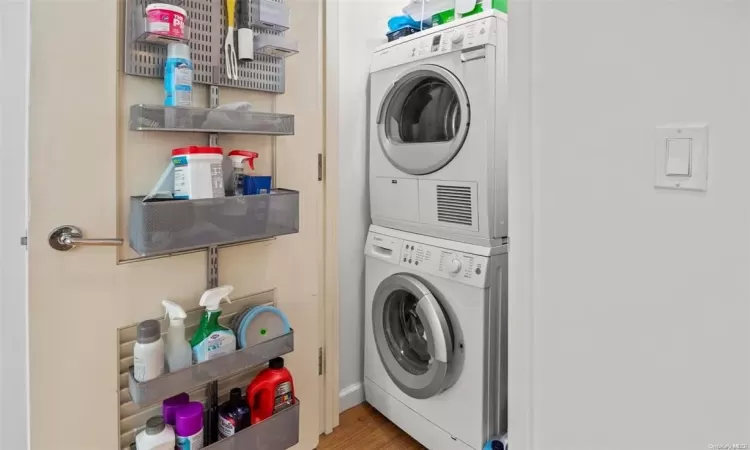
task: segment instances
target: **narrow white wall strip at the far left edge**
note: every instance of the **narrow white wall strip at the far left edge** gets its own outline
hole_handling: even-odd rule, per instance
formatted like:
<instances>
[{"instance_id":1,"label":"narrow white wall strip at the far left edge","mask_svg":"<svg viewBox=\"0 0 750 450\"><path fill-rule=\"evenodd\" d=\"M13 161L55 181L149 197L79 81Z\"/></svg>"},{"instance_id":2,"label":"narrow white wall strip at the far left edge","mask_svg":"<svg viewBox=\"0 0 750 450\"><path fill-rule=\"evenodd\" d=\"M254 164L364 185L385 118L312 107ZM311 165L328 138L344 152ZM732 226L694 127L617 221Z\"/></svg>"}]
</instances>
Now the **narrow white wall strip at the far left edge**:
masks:
<instances>
[{"instance_id":1,"label":"narrow white wall strip at the far left edge","mask_svg":"<svg viewBox=\"0 0 750 450\"><path fill-rule=\"evenodd\" d=\"M0 2L0 449L28 441L26 161L29 1Z\"/></svg>"}]
</instances>

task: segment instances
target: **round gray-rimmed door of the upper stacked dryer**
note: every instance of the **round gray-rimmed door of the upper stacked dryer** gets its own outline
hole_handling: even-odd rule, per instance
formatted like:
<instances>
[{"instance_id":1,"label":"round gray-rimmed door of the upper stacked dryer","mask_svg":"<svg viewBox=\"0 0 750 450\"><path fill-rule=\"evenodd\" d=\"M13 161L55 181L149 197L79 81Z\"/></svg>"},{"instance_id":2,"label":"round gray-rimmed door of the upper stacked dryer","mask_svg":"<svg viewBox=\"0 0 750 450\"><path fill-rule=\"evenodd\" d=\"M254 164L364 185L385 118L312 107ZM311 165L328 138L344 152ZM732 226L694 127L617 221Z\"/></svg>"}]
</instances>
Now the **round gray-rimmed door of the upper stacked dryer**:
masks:
<instances>
[{"instance_id":1,"label":"round gray-rimmed door of the upper stacked dryer","mask_svg":"<svg viewBox=\"0 0 750 450\"><path fill-rule=\"evenodd\" d=\"M469 99L448 70L422 65L401 74L378 112L378 138L388 160L412 175L435 172L461 150Z\"/></svg>"}]
</instances>

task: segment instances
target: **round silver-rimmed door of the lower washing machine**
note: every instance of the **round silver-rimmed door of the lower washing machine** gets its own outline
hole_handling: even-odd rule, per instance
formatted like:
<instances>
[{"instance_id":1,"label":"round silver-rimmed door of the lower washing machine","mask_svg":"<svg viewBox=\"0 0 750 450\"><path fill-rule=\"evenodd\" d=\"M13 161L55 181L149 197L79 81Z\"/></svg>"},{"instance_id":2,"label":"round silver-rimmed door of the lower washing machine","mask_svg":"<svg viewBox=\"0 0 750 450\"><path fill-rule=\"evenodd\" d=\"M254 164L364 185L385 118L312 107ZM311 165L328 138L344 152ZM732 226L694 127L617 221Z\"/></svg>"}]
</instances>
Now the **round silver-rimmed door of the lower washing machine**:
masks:
<instances>
[{"instance_id":1,"label":"round silver-rimmed door of the lower washing machine","mask_svg":"<svg viewBox=\"0 0 750 450\"><path fill-rule=\"evenodd\" d=\"M373 299L372 328L380 360L405 394L425 399L447 387L451 327L421 281L406 274L383 280Z\"/></svg>"}]
</instances>

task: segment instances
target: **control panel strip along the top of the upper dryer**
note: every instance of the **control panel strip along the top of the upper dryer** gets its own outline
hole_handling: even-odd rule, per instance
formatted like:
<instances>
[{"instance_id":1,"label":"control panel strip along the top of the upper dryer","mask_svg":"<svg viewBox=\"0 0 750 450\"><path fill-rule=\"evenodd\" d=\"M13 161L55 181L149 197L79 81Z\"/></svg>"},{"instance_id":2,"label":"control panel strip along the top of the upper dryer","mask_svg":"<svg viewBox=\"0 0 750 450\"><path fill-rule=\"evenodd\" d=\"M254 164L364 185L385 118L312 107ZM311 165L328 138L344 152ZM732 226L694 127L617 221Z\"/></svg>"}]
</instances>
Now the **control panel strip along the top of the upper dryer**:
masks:
<instances>
[{"instance_id":1,"label":"control panel strip along the top of the upper dryer","mask_svg":"<svg viewBox=\"0 0 750 450\"><path fill-rule=\"evenodd\" d=\"M376 51L372 57L370 71L405 64L411 61L457 50L495 44L496 18L486 17L448 27L425 30L409 37L401 38Z\"/></svg>"}]
</instances>

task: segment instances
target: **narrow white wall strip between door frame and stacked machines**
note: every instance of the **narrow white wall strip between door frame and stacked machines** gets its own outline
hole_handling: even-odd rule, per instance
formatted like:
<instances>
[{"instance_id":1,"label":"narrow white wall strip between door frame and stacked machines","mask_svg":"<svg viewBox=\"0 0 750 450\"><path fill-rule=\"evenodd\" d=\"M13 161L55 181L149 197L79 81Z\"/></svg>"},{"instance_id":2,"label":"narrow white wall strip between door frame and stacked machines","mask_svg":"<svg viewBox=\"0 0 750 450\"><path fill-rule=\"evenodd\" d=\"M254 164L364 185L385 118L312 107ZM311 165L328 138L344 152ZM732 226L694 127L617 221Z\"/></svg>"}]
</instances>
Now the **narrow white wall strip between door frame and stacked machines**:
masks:
<instances>
[{"instance_id":1,"label":"narrow white wall strip between door frame and stacked machines","mask_svg":"<svg viewBox=\"0 0 750 450\"><path fill-rule=\"evenodd\" d=\"M386 41L388 18L406 0L337 2L339 145L339 357L345 410L364 400L364 245L370 225L367 181L367 79L372 51ZM329 70L331 68L329 67Z\"/></svg>"}]
</instances>

